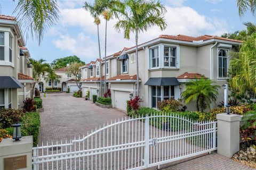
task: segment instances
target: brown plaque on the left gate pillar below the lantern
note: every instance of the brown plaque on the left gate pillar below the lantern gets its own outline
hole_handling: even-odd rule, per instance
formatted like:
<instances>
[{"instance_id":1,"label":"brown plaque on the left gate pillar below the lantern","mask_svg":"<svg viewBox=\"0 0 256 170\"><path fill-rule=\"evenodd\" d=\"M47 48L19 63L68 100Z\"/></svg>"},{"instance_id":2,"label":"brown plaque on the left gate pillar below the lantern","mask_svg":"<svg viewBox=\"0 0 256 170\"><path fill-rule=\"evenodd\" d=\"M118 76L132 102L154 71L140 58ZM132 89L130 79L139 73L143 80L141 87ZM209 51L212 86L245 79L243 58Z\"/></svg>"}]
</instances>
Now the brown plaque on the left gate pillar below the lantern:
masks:
<instances>
[{"instance_id":1,"label":"brown plaque on the left gate pillar below the lantern","mask_svg":"<svg viewBox=\"0 0 256 170\"><path fill-rule=\"evenodd\" d=\"M4 158L4 170L14 170L27 167L27 156Z\"/></svg>"}]
</instances>

